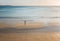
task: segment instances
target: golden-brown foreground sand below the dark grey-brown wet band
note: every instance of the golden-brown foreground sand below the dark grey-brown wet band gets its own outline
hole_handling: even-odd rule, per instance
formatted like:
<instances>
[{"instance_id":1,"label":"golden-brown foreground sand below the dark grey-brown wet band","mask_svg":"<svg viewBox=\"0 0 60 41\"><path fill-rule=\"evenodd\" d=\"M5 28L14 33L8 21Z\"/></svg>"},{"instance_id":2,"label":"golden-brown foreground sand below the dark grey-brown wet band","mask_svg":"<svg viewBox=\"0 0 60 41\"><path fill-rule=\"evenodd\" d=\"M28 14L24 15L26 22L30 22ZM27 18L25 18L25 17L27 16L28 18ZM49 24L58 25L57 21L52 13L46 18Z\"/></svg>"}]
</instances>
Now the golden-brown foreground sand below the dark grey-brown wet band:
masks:
<instances>
[{"instance_id":1,"label":"golden-brown foreground sand below the dark grey-brown wet band","mask_svg":"<svg viewBox=\"0 0 60 41\"><path fill-rule=\"evenodd\" d=\"M0 33L0 41L60 41L60 32Z\"/></svg>"}]
</instances>

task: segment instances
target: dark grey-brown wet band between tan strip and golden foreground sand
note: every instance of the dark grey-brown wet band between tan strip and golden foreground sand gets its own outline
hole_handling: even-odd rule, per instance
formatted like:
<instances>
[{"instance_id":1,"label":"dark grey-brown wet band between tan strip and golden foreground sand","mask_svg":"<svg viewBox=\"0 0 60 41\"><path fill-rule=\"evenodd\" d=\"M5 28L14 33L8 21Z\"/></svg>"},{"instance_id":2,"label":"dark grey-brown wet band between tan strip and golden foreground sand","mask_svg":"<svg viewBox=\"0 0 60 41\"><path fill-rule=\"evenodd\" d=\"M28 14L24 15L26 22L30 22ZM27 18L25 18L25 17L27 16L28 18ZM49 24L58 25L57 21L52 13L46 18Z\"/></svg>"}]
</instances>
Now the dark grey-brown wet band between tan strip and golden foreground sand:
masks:
<instances>
[{"instance_id":1,"label":"dark grey-brown wet band between tan strip and golden foreground sand","mask_svg":"<svg viewBox=\"0 0 60 41\"><path fill-rule=\"evenodd\" d=\"M42 27L42 28L0 28L0 33L34 33L34 32L60 32L59 27Z\"/></svg>"}]
</instances>

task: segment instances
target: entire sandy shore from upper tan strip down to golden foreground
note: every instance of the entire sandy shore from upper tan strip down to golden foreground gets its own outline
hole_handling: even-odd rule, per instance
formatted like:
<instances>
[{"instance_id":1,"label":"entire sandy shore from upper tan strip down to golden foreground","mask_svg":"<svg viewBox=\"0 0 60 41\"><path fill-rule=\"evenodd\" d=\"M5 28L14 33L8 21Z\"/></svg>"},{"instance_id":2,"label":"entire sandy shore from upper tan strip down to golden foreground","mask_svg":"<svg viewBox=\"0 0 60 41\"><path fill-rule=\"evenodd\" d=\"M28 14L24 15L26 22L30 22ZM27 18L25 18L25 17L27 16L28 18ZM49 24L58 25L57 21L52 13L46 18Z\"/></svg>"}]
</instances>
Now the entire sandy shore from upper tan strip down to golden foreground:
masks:
<instances>
[{"instance_id":1,"label":"entire sandy shore from upper tan strip down to golden foreground","mask_svg":"<svg viewBox=\"0 0 60 41\"><path fill-rule=\"evenodd\" d=\"M49 23L49 25L0 23L0 41L60 41L60 26L55 26L57 23Z\"/></svg>"}]
</instances>

